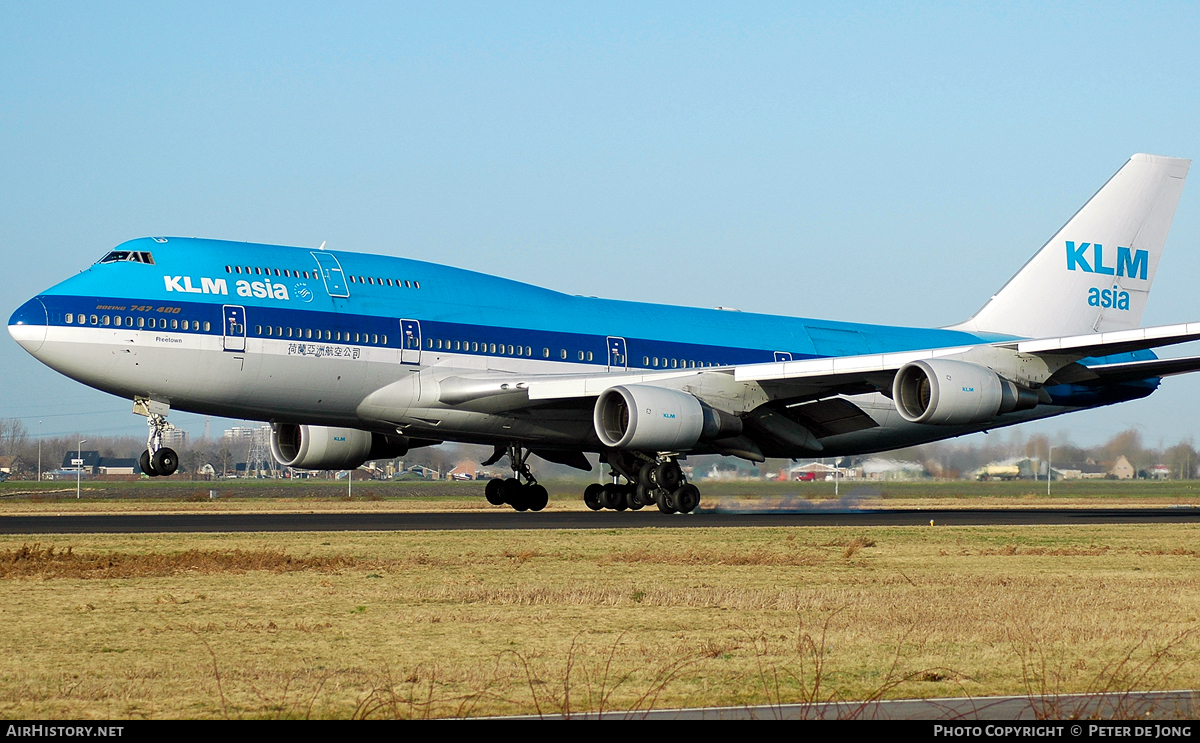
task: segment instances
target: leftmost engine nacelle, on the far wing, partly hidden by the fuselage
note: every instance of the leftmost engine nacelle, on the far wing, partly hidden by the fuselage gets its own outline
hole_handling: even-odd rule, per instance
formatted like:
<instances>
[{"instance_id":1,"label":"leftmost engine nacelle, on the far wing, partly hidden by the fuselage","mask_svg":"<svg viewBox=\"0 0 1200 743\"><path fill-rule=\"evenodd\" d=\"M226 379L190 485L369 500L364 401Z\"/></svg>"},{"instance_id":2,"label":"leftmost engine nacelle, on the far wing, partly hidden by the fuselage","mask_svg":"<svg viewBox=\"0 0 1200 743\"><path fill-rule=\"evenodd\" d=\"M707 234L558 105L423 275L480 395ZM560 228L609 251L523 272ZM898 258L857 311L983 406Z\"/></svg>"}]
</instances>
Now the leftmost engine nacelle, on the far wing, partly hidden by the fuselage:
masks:
<instances>
[{"instance_id":1,"label":"leftmost engine nacelle, on the far wing, partly hidden by the fuselage","mask_svg":"<svg viewBox=\"0 0 1200 743\"><path fill-rule=\"evenodd\" d=\"M370 460L403 456L408 448L403 436L358 429L277 424L271 432L275 461L299 469L355 469Z\"/></svg>"}]
</instances>

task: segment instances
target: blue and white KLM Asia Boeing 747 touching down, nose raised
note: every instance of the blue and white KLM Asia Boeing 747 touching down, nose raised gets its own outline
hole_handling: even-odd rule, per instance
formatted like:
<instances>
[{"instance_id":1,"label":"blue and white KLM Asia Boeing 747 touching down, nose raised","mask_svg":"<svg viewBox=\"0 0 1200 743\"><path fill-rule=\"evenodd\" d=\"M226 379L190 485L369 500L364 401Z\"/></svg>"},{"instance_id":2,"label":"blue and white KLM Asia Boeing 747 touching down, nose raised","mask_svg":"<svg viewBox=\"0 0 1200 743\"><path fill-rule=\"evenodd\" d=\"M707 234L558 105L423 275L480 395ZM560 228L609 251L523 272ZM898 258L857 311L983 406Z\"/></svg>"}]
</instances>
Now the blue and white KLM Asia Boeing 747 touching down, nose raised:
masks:
<instances>
[{"instance_id":1,"label":"blue and white KLM Asia Boeing 747 touching down, nose raised","mask_svg":"<svg viewBox=\"0 0 1200 743\"><path fill-rule=\"evenodd\" d=\"M133 401L170 475L172 409L270 421L281 465L494 445L496 504L540 510L529 455L590 469L593 509L688 513L688 454L844 456L1145 397L1200 356L1139 328L1190 161L1134 155L971 319L893 328L569 296L462 269L194 238L125 242L22 305L46 365Z\"/></svg>"}]
</instances>

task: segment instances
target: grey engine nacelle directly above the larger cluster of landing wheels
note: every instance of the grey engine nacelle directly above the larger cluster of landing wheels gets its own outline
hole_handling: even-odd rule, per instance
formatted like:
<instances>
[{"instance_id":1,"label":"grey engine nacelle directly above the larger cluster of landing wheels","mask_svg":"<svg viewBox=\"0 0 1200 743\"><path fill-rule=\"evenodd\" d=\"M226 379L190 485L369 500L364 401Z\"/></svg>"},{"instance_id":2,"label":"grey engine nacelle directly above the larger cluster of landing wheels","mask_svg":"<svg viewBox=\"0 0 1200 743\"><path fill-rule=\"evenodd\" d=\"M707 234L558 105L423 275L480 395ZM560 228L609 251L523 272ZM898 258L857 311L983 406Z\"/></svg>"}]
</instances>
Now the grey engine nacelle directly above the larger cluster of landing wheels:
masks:
<instances>
[{"instance_id":1,"label":"grey engine nacelle directly above the larger cluster of landing wheels","mask_svg":"<svg viewBox=\"0 0 1200 743\"><path fill-rule=\"evenodd\" d=\"M688 393L644 384L606 389L596 400L593 423L605 447L641 451L686 451L702 438L742 432L734 415Z\"/></svg>"}]
</instances>

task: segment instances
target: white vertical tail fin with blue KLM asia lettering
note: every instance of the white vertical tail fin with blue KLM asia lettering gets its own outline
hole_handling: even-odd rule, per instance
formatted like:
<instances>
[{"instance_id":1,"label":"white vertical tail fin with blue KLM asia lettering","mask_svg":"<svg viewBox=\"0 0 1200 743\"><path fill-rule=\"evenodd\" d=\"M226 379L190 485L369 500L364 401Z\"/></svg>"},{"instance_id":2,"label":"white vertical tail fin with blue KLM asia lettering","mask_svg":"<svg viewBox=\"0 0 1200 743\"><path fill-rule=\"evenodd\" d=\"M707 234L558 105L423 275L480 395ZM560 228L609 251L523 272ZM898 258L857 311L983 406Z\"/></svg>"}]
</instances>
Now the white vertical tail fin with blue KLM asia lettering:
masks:
<instances>
[{"instance_id":1,"label":"white vertical tail fin with blue KLM asia lettering","mask_svg":"<svg viewBox=\"0 0 1200 743\"><path fill-rule=\"evenodd\" d=\"M1052 337L1138 328L1190 163L1130 157L974 317L953 329Z\"/></svg>"}]
</instances>

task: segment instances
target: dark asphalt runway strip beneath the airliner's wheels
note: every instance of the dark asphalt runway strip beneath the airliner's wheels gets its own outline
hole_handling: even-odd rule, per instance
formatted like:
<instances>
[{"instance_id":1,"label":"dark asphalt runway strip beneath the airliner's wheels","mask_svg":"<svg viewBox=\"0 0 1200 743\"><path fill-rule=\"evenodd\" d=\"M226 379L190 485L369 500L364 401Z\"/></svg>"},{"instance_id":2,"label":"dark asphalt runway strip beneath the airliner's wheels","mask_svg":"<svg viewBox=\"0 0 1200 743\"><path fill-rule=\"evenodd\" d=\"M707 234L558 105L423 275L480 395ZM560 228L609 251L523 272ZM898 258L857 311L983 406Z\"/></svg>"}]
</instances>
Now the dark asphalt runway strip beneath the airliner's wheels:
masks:
<instances>
[{"instance_id":1,"label":"dark asphalt runway strip beneath the airliner's wheels","mask_svg":"<svg viewBox=\"0 0 1200 743\"><path fill-rule=\"evenodd\" d=\"M1200 523L1200 508L862 509L664 515L658 511L106 514L0 516L0 534L169 532L419 532L461 529L644 529L804 526L1038 526Z\"/></svg>"}]
</instances>

